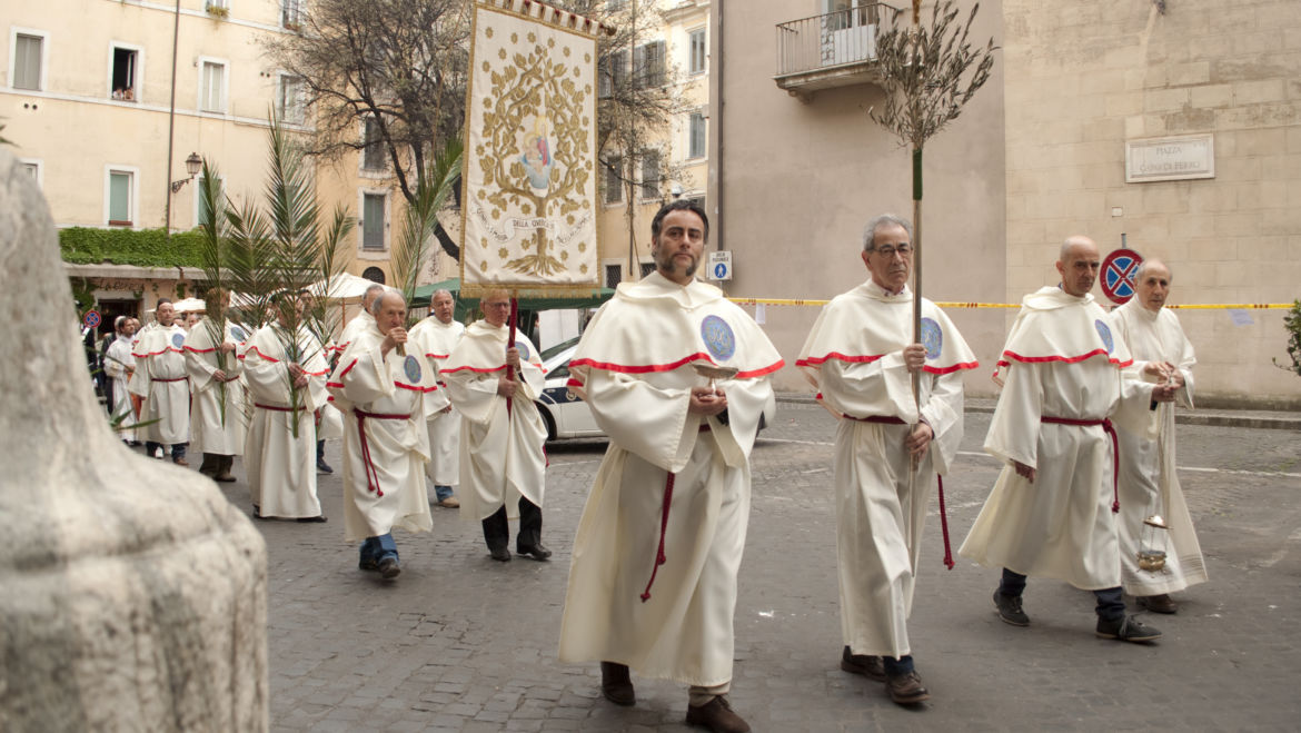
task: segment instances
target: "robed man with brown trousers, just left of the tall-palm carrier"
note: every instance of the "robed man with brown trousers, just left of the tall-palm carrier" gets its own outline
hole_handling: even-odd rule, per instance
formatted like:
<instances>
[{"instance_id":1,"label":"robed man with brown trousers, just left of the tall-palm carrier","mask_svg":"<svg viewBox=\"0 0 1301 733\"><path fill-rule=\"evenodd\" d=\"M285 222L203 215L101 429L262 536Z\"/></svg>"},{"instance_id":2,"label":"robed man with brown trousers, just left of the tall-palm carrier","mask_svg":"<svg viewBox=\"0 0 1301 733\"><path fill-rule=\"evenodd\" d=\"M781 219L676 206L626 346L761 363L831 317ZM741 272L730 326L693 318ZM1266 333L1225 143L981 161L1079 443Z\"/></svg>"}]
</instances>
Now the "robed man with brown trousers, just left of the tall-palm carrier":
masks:
<instances>
[{"instance_id":1,"label":"robed man with brown trousers, just left of the tall-palm carrier","mask_svg":"<svg viewBox=\"0 0 1301 733\"><path fill-rule=\"evenodd\" d=\"M208 292L207 315L185 340L185 363L190 374L190 448L203 453L199 473L219 482L233 482L235 456L243 454L245 388L237 357L248 335L225 316L230 294ZM220 325L219 325L220 323Z\"/></svg>"}]
</instances>

